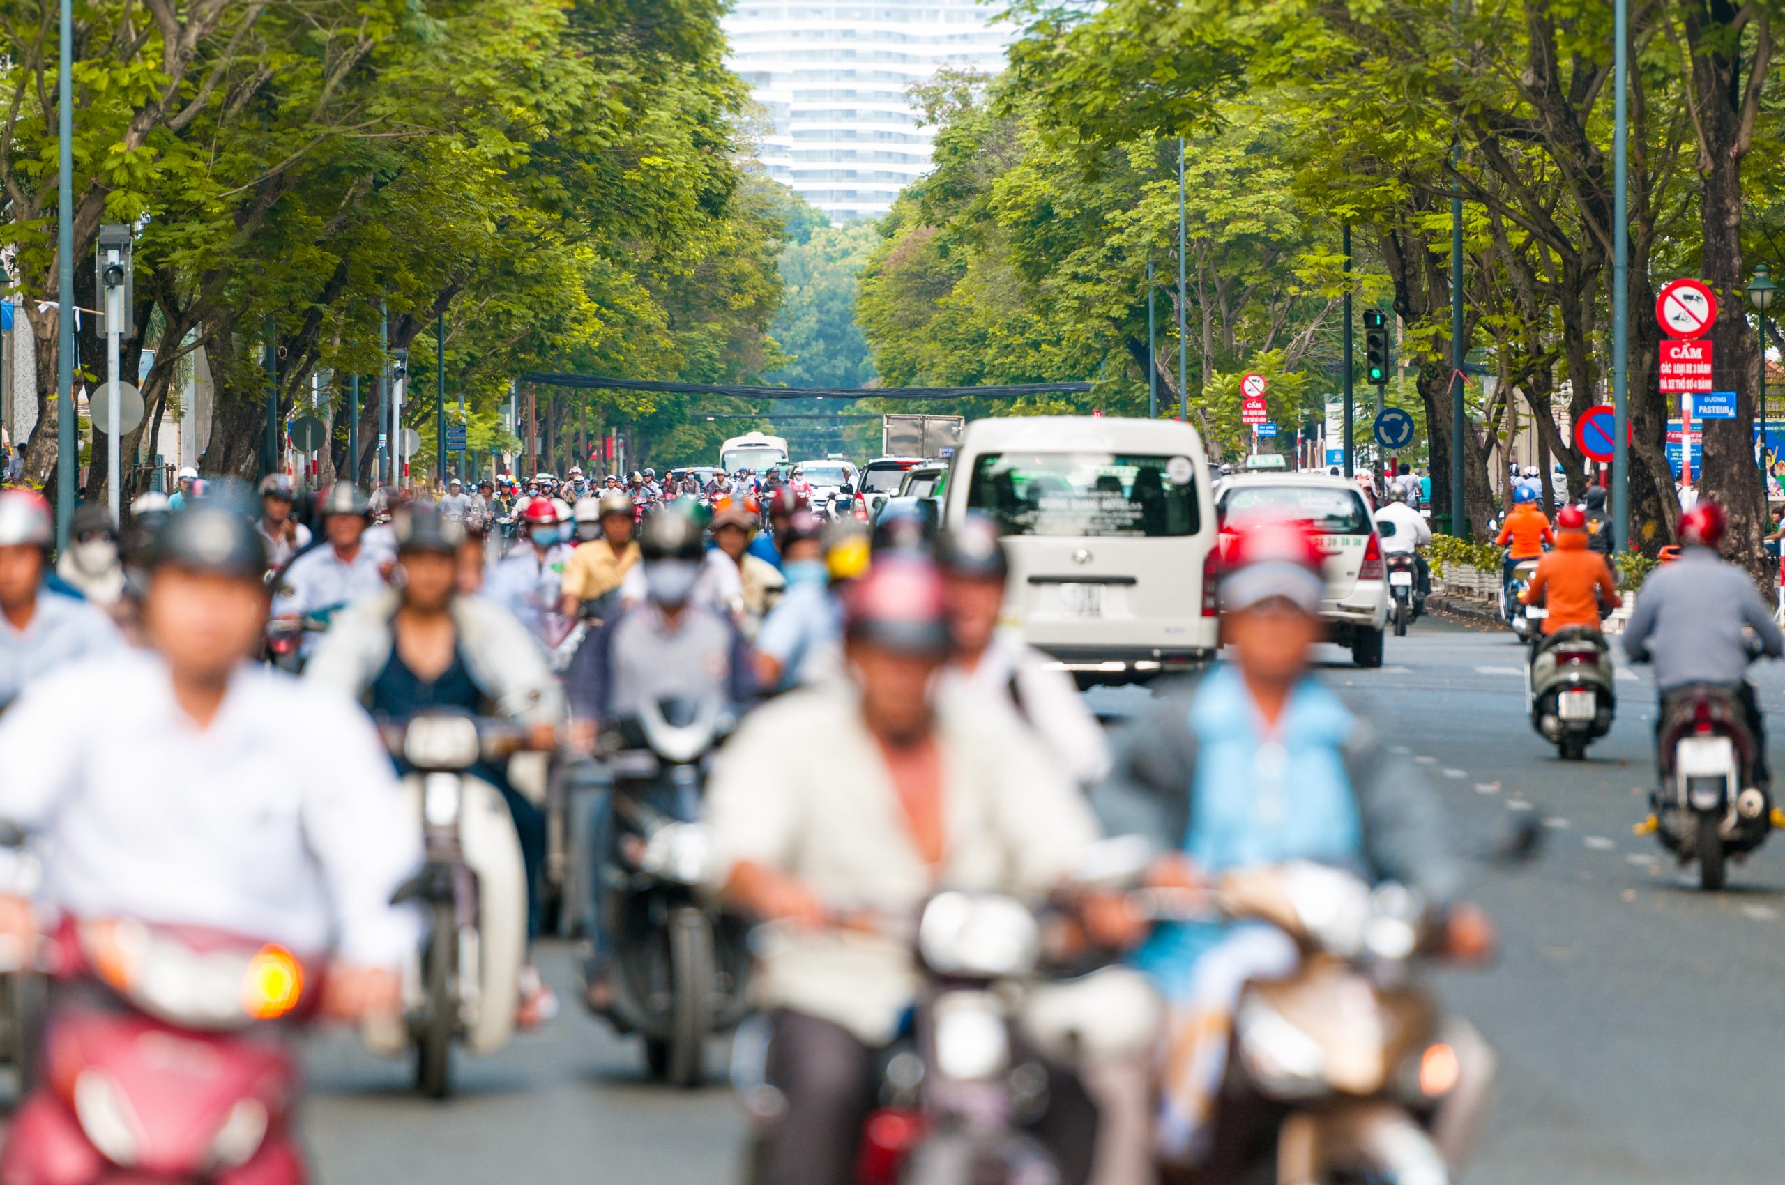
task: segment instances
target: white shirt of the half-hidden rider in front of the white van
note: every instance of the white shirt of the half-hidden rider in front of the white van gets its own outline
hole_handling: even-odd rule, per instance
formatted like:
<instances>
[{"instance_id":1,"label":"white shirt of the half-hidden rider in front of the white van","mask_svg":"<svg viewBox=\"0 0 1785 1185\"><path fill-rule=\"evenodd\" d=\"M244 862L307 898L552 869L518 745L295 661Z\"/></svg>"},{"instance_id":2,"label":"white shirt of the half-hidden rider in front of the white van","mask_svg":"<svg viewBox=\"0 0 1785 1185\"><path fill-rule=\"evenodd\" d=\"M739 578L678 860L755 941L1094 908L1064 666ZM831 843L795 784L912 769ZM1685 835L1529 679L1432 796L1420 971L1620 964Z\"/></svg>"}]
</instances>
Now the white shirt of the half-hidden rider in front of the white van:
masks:
<instances>
[{"instance_id":1,"label":"white shirt of the half-hidden rider in front of the white van","mask_svg":"<svg viewBox=\"0 0 1785 1185\"><path fill-rule=\"evenodd\" d=\"M1073 676L1014 630L998 630L971 671L948 664L941 694L1009 707L1078 785L1096 785L1110 771L1108 737Z\"/></svg>"}]
</instances>

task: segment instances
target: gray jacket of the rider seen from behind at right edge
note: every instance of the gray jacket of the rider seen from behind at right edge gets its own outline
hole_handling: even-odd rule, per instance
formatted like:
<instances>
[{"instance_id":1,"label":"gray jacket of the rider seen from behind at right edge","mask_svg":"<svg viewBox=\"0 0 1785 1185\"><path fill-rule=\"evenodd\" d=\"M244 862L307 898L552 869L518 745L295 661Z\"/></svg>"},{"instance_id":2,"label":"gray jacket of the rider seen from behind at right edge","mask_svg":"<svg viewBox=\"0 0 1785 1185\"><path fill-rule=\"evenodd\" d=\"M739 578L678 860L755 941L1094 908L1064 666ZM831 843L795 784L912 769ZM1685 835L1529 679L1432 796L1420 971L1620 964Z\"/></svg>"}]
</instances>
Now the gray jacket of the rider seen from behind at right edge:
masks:
<instances>
[{"instance_id":1,"label":"gray jacket of the rider seen from behind at right edge","mask_svg":"<svg viewBox=\"0 0 1785 1185\"><path fill-rule=\"evenodd\" d=\"M1651 571L1624 626L1624 653L1655 662L1662 691L1687 684L1740 684L1748 678L1749 626L1778 659L1785 635L1746 569L1710 548L1685 548L1678 562Z\"/></svg>"}]
</instances>

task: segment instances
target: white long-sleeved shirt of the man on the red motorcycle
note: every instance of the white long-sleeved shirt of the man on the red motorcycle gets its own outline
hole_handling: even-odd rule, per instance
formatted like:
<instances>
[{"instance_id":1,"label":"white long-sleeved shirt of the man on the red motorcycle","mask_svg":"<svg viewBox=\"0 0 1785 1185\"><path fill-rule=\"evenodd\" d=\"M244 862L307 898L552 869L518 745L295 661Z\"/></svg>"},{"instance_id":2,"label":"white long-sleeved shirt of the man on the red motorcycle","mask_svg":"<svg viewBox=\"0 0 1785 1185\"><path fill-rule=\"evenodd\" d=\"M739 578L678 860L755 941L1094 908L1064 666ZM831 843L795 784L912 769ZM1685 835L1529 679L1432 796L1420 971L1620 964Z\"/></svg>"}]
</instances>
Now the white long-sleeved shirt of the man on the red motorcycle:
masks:
<instances>
[{"instance_id":1,"label":"white long-sleeved shirt of the man on the red motorcycle","mask_svg":"<svg viewBox=\"0 0 1785 1185\"><path fill-rule=\"evenodd\" d=\"M341 692L243 666L209 728L154 651L82 662L0 717L0 817L45 841L43 894L130 916L400 965L414 917L391 894L421 864L371 721ZM16 887L4 853L0 885Z\"/></svg>"}]
</instances>

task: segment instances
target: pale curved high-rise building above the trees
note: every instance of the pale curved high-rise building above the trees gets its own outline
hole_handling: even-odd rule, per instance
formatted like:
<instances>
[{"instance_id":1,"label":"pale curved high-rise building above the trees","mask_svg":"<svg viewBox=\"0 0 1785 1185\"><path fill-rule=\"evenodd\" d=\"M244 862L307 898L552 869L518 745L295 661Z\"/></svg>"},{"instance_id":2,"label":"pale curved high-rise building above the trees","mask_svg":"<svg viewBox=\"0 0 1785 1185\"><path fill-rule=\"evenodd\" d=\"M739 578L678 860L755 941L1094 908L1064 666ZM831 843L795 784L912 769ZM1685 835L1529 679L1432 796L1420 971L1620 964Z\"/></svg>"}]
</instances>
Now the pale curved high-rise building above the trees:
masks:
<instances>
[{"instance_id":1,"label":"pale curved high-rise building above the trees","mask_svg":"<svg viewBox=\"0 0 1785 1185\"><path fill-rule=\"evenodd\" d=\"M730 66L769 127L769 177L832 221L878 218L930 168L910 86L939 70L998 73L1012 30L976 0L735 0Z\"/></svg>"}]
</instances>

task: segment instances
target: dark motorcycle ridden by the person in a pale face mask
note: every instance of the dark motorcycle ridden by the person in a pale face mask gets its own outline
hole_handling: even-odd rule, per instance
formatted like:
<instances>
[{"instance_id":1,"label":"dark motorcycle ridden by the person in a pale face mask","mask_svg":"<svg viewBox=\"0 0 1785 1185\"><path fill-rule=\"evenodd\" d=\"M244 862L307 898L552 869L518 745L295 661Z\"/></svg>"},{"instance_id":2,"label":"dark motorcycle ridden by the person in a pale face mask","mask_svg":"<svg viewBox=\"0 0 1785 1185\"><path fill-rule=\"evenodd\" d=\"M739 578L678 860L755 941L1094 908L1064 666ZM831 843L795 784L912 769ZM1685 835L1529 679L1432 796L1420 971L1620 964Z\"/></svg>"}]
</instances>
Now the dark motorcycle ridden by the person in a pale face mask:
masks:
<instances>
[{"instance_id":1,"label":"dark motorcycle ridden by the person in a pale face mask","mask_svg":"<svg viewBox=\"0 0 1785 1185\"><path fill-rule=\"evenodd\" d=\"M575 862L594 876L612 951L610 1003L598 1014L644 1039L650 1073L678 1087L705 1081L707 1039L748 1012L748 928L702 892L705 764L732 726L718 701L644 701L609 730L610 828ZM591 828L580 828L589 842ZM584 992L587 999L587 992Z\"/></svg>"}]
</instances>

